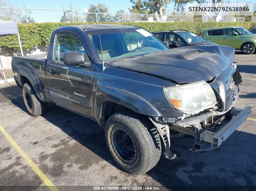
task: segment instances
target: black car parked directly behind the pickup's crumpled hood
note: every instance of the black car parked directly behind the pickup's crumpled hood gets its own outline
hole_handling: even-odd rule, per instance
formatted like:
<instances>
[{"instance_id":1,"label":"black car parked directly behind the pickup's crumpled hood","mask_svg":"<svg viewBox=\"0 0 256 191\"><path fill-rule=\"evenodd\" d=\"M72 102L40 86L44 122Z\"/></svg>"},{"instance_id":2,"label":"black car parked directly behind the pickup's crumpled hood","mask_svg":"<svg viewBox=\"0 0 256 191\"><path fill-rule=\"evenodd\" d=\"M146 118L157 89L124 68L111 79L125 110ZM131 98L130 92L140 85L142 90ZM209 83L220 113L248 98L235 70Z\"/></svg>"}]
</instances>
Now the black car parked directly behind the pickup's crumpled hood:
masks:
<instances>
[{"instance_id":1,"label":"black car parked directly behind the pickup's crumpled hood","mask_svg":"<svg viewBox=\"0 0 256 191\"><path fill-rule=\"evenodd\" d=\"M161 41L167 42L169 48L171 49L180 46L216 45L214 43L205 41L198 35L191 33L188 30L156 31L153 32L153 34Z\"/></svg>"}]
</instances>

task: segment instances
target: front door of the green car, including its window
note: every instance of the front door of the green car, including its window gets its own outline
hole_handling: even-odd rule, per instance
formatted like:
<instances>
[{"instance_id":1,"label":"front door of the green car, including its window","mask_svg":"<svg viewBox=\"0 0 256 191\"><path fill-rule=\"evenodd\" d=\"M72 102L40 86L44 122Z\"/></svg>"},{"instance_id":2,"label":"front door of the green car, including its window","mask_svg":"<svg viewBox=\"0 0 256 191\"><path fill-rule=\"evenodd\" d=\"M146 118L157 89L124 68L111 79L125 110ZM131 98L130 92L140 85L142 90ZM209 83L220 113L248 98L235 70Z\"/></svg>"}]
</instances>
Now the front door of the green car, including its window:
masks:
<instances>
[{"instance_id":1,"label":"front door of the green car, including its window","mask_svg":"<svg viewBox=\"0 0 256 191\"><path fill-rule=\"evenodd\" d=\"M223 46L231 46L233 48L240 48L240 35L233 28L224 29L222 37Z\"/></svg>"}]
</instances>

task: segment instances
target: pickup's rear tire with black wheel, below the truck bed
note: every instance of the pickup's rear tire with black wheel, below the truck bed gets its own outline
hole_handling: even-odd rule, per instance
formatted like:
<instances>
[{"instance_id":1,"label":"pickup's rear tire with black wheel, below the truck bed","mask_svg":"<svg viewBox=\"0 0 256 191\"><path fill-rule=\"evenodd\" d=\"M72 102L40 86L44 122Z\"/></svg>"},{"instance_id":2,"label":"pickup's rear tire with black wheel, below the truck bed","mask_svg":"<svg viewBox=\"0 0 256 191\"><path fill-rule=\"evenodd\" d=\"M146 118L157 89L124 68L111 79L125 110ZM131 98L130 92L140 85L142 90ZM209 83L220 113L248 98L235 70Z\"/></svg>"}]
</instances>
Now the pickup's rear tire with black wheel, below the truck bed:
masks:
<instances>
[{"instance_id":1,"label":"pickup's rear tire with black wheel, below the truck bed","mask_svg":"<svg viewBox=\"0 0 256 191\"><path fill-rule=\"evenodd\" d=\"M32 116L39 116L45 113L46 103L38 99L30 83L25 83L22 86L22 95L25 106Z\"/></svg>"}]
</instances>

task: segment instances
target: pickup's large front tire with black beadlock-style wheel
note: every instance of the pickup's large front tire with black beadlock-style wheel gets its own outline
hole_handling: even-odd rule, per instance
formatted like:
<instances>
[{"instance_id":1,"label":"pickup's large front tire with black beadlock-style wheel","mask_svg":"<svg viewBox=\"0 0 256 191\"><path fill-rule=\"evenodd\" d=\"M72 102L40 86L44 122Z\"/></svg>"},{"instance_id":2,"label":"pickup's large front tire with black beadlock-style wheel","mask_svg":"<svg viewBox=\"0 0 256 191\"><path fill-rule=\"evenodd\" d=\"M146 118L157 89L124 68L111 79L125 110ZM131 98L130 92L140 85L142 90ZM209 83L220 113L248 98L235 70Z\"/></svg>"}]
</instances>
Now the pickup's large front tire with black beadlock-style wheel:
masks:
<instances>
[{"instance_id":1,"label":"pickup's large front tire with black beadlock-style wheel","mask_svg":"<svg viewBox=\"0 0 256 191\"><path fill-rule=\"evenodd\" d=\"M114 161L131 174L146 173L161 157L161 141L156 128L146 116L129 110L108 118L105 139Z\"/></svg>"}]
</instances>

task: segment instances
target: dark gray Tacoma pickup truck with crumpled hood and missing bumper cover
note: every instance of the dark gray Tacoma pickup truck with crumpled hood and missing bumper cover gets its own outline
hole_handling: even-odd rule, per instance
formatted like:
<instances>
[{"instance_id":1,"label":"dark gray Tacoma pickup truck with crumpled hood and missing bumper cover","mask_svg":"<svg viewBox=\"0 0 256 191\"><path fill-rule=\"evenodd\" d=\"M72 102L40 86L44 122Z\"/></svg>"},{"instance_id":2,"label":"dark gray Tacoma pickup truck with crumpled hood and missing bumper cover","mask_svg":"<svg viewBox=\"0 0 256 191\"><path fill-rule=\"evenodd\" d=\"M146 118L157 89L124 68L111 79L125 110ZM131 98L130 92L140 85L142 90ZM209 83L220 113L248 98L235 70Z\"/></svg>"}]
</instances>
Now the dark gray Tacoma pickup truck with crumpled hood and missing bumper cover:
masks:
<instances>
[{"instance_id":1,"label":"dark gray Tacoma pickup truck with crumpled hood and missing bumper cover","mask_svg":"<svg viewBox=\"0 0 256 191\"><path fill-rule=\"evenodd\" d=\"M191 151L218 148L251 113L234 108L241 75L234 48L169 49L148 31L84 25L53 31L47 59L14 56L14 78L28 112L47 103L95 120L126 172L145 173L161 156L178 156L170 138L194 137Z\"/></svg>"}]
</instances>

